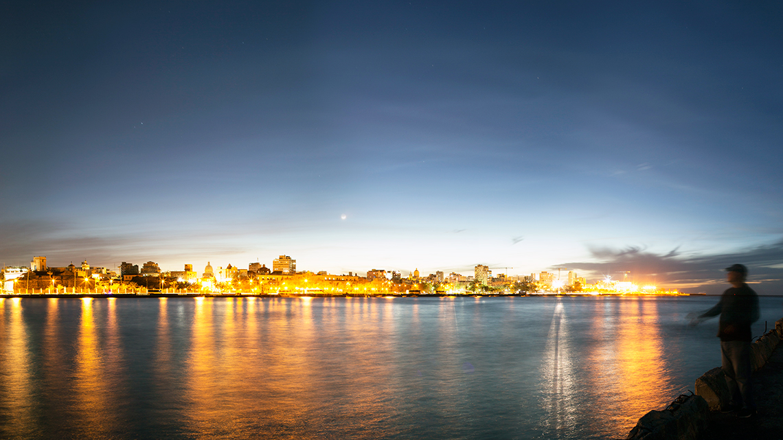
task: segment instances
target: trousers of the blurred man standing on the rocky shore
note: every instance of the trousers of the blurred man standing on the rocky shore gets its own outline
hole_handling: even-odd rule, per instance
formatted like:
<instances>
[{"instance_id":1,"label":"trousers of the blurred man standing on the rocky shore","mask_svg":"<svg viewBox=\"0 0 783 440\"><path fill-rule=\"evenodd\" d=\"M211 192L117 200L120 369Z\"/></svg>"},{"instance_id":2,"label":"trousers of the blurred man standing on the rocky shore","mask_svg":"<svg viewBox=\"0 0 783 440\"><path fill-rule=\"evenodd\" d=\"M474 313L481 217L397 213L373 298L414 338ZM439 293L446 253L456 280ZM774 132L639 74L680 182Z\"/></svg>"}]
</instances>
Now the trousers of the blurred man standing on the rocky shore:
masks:
<instances>
[{"instance_id":1,"label":"trousers of the blurred man standing on the rocky shore","mask_svg":"<svg viewBox=\"0 0 783 440\"><path fill-rule=\"evenodd\" d=\"M721 341L721 369L731 392L731 403L756 409L750 385L750 342Z\"/></svg>"}]
</instances>

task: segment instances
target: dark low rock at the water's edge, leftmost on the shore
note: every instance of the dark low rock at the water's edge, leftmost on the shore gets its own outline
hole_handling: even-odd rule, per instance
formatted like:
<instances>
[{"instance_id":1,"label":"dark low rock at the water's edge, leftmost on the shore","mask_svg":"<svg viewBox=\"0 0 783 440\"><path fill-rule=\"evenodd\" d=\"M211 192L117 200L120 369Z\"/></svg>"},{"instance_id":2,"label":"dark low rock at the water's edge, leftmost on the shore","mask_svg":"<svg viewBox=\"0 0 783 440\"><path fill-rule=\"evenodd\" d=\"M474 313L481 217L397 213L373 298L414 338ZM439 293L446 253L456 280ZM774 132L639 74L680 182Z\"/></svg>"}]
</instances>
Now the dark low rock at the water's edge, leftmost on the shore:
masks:
<instances>
[{"instance_id":1,"label":"dark low rock at the water's edge, leftmost on the shore","mask_svg":"<svg viewBox=\"0 0 783 440\"><path fill-rule=\"evenodd\" d=\"M707 402L698 395L680 395L663 411L639 419L627 440L691 440L707 427Z\"/></svg>"}]
</instances>

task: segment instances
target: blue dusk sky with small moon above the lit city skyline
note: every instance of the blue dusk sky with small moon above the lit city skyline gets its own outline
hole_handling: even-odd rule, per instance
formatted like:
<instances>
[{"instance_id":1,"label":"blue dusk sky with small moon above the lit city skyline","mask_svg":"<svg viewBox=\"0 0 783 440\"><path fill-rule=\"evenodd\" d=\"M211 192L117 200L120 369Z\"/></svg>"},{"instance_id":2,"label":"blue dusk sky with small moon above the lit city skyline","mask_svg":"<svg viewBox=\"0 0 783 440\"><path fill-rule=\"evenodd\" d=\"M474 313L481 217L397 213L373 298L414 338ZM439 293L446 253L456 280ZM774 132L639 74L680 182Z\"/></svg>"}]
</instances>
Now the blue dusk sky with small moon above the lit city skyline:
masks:
<instances>
[{"instance_id":1,"label":"blue dusk sky with small moon above the lit city skyline","mask_svg":"<svg viewBox=\"0 0 783 440\"><path fill-rule=\"evenodd\" d=\"M780 2L3 2L0 43L5 265L783 294Z\"/></svg>"}]
</instances>

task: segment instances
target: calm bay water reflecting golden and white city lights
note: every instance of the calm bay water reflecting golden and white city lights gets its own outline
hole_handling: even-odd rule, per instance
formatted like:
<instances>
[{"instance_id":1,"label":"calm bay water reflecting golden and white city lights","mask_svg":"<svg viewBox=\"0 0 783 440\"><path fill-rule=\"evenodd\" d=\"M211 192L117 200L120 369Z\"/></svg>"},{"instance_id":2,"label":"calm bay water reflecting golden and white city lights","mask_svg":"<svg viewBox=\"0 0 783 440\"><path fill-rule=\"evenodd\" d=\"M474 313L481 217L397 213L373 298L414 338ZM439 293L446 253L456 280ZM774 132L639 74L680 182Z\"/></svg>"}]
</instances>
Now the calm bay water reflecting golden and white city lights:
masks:
<instances>
[{"instance_id":1,"label":"calm bay water reflecting golden and white city lights","mask_svg":"<svg viewBox=\"0 0 783 440\"><path fill-rule=\"evenodd\" d=\"M720 365L717 300L0 299L0 437L622 438Z\"/></svg>"}]
</instances>

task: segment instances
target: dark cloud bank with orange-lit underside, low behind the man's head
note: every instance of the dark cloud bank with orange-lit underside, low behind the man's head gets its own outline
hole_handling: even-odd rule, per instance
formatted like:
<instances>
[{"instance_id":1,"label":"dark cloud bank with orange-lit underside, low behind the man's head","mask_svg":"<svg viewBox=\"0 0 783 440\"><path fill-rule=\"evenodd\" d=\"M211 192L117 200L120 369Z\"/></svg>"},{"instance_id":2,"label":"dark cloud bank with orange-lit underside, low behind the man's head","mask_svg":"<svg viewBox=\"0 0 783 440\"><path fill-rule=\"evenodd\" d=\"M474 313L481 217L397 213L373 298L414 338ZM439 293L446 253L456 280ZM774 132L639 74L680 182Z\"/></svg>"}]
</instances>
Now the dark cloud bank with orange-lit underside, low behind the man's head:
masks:
<instances>
[{"instance_id":1,"label":"dark cloud bank with orange-lit underside, low behind the man's head","mask_svg":"<svg viewBox=\"0 0 783 440\"><path fill-rule=\"evenodd\" d=\"M748 266L749 283L759 294L783 293L783 240L725 254L684 256L679 248L656 254L636 246L592 247L590 254L595 261L572 261L562 266L594 276L630 271L633 280L639 282L655 282L688 293L720 294L727 287L723 269L742 263Z\"/></svg>"}]
</instances>

